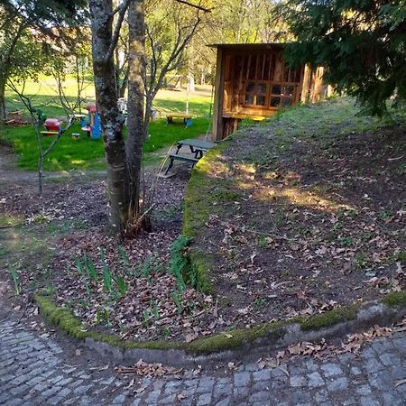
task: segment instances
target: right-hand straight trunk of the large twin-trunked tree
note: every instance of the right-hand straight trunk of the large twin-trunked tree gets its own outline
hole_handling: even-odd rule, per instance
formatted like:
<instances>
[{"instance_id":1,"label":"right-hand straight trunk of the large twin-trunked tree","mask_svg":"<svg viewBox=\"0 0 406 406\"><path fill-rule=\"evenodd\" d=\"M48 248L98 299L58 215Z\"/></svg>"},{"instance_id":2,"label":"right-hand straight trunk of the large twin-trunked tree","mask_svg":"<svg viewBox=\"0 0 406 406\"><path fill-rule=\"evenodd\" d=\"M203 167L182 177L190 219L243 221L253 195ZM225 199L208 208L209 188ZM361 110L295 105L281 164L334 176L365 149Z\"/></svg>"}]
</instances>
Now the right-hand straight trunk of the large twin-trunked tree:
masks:
<instances>
[{"instance_id":1,"label":"right-hand straight trunk of the large twin-trunked tree","mask_svg":"<svg viewBox=\"0 0 406 406\"><path fill-rule=\"evenodd\" d=\"M145 125L143 116L145 76L145 25L143 0L128 7L129 77L126 153L130 173L130 194L134 215L140 214L140 178Z\"/></svg>"}]
</instances>

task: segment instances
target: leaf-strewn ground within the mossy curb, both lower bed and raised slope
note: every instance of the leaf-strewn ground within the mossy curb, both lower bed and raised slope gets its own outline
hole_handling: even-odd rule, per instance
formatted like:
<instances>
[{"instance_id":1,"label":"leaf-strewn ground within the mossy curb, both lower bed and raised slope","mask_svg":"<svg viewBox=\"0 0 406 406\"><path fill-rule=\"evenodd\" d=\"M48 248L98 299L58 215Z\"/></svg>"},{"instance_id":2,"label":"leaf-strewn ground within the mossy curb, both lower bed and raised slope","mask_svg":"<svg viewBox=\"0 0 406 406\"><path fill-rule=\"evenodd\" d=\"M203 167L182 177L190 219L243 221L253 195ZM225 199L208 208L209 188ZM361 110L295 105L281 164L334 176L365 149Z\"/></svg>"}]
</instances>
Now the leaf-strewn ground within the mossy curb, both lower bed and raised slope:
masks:
<instances>
[{"instance_id":1,"label":"leaf-strewn ground within the mossy curb, both lower bed and raised slope","mask_svg":"<svg viewBox=\"0 0 406 406\"><path fill-rule=\"evenodd\" d=\"M224 165L208 176L216 188L227 180L233 198L208 201L195 243L216 260L213 296L189 287L180 294L167 272L186 170L157 180L153 232L121 242L106 232L103 180L53 182L43 198L33 186L8 185L2 277L12 265L24 295L45 290L92 328L123 339L187 342L401 291L405 130L356 117L350 105L300 107L243 130L223 152Z\"/></svg>"}]
</instances>

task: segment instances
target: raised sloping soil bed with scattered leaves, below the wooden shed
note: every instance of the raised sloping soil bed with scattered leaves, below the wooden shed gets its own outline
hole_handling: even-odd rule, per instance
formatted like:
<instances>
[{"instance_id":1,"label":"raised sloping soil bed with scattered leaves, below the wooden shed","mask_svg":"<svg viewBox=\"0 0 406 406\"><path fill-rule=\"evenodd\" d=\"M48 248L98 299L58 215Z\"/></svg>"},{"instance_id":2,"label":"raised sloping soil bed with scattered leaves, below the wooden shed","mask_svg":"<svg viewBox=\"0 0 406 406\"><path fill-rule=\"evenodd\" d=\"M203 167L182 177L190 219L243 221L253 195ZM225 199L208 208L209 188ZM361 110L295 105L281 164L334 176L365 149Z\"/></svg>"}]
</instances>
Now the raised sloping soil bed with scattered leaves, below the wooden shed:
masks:
<instances>
[{"instance_id":1,"label":"raised sloping soil bed with scattered leaves, below the wooden shed","mask_svg":"<svg viewBox=\"0 0 406 406\"><path fill-rule=\"evenodd\" d=\"M190 215L193 249L235 327L404 290L406 129L355 112L341 99L248 128L189 185L207 215Z\"/></svg>"}]
</instances>

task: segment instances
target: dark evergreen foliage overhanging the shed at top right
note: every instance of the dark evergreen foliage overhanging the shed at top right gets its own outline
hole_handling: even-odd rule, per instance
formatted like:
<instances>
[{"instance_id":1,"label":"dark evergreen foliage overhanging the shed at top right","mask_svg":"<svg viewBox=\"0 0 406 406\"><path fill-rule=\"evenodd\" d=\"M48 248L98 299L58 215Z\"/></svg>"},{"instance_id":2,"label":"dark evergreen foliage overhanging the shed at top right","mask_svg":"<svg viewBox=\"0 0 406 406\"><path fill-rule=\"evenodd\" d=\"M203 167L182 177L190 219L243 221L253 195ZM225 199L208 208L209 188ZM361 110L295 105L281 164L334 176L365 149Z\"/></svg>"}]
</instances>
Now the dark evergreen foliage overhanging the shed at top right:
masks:
<instances>
[{"instance_id":1,"label":"dark evergreen foliage overhanging the shed at top right","mask_svg":"<svg viewBox=\"0 0 406 406\"><path fill-rule=\"evenodd\" d=\"M329 83L374 115L389 97L406 99L404 0L293 0L280 10L298 39L286 50L292 64L324 66Z\"/></svg>"}]
</instances>

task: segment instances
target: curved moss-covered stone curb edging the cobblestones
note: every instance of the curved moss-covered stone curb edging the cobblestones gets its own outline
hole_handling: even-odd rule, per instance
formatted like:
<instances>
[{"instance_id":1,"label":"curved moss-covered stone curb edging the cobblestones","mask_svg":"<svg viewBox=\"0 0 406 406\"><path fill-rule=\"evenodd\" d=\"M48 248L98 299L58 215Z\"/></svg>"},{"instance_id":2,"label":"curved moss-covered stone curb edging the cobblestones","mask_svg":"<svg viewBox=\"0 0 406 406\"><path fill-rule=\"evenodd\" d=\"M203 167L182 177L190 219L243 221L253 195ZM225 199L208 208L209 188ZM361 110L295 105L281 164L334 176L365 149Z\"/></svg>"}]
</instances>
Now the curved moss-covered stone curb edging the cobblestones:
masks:
<instances>
[{"instance_id":1,"label":"curved moss-covered stone curb edging the cobblestones","mask_svg":"<svg viewBox=\"0 0 406 406\"><path fill-rule=\"evenodd\" d=\"M191 343L175 341L133 341L99 333L81 323L68 310L57 306L50 296L34 295L40 314L52 325L89 347L103 350L120 360L143 357L147 362L193 364L198 358L234 359L249 353L289 346L300 341L340 337L361 328L390 325L406 314L406 291L393 292L382 301L352 304L314 316L291 318L259 324L253 328L225 331L211 337L199 338Z\"/></svg>"}]
</instances>

